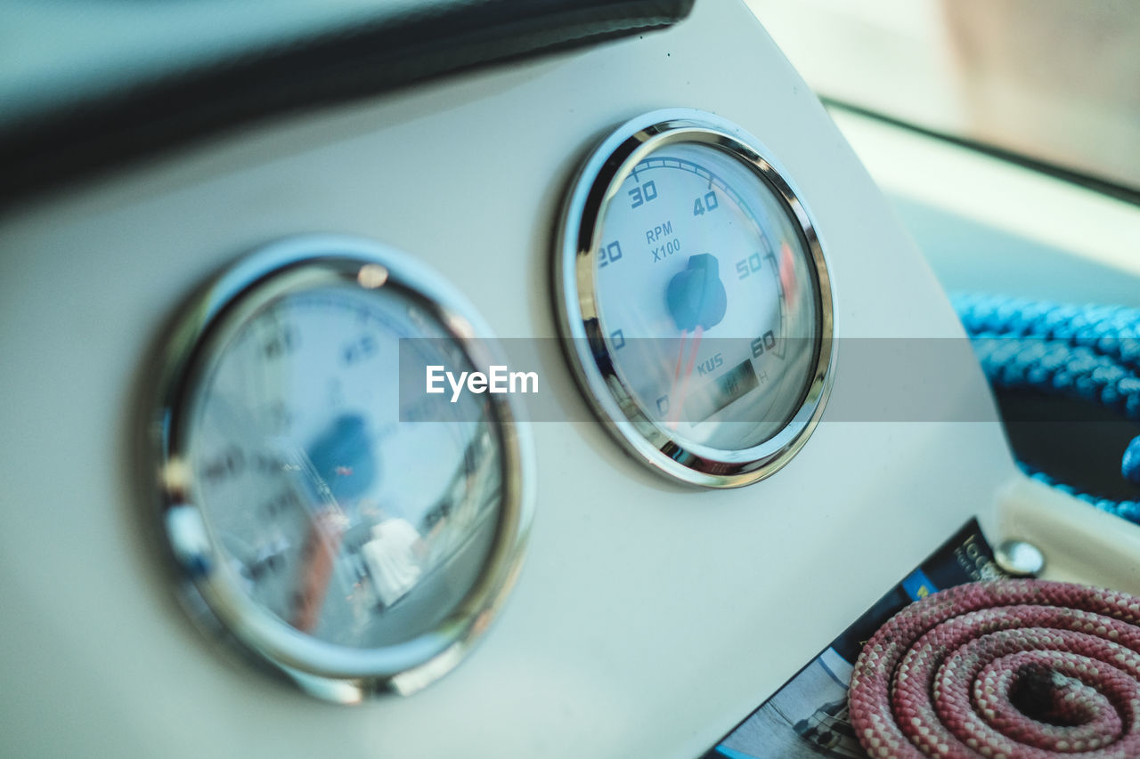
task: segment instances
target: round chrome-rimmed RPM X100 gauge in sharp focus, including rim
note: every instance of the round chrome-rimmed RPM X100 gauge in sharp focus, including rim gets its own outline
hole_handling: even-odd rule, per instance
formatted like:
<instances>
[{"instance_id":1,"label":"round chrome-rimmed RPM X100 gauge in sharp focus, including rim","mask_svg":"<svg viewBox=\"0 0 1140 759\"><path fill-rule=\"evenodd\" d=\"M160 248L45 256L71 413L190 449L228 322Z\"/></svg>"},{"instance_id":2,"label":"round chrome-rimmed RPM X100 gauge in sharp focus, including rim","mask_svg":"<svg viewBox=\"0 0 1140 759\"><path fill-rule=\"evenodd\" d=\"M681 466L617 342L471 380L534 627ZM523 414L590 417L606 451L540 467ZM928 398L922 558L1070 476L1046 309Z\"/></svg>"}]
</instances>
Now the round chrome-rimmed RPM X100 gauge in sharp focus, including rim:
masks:
<instances>
[{"instance_id":1,"label":"round chrome-rimmed RPM X100 gauge in sharp focus, including rim","mask_svg":"<svg viewBox=\"0 0 1140 759\"><path fill-rule=\"evenodd\" d=\"M695 111L622 125L579 174L561 246L570 364L635 456L723 488L799 450L830 387L831 286L806 209L755 139Z\"/></svg>"}]
</instances>

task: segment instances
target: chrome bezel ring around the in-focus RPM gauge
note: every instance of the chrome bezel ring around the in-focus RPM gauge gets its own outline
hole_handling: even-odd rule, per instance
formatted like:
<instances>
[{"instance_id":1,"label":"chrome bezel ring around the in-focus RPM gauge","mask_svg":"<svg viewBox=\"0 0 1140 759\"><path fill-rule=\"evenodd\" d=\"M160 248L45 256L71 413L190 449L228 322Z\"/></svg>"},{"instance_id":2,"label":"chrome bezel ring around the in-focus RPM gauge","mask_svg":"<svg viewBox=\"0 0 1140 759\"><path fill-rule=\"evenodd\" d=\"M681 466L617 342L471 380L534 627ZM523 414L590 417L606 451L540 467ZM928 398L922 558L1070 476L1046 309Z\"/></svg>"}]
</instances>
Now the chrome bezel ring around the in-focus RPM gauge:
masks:
<instances>
[{"instance_id":1,"label":"chrome bezel ring around the in-focus RPM gauge","mask_svg":"<svg viewBox=\"0 0 1140 759\"><path fill-rule=\"evenodd\" d=\"M691 446L642 410L613 369L596 308L594 255L609 203L633 168L659 148L692 142L723 150L748 166L782 201L809 252L819 335L813 372L787 425L764 442L738 450ZM689 108L656 111L611 133L573 180L562 217L554 266L554 302L565 354L587 401L614 439L656 472L707 488L757 482L803 448L823 414L833 376L833 293L826 258L811 215L765 148L735 124Z\"/></svg>"}]
</instances>

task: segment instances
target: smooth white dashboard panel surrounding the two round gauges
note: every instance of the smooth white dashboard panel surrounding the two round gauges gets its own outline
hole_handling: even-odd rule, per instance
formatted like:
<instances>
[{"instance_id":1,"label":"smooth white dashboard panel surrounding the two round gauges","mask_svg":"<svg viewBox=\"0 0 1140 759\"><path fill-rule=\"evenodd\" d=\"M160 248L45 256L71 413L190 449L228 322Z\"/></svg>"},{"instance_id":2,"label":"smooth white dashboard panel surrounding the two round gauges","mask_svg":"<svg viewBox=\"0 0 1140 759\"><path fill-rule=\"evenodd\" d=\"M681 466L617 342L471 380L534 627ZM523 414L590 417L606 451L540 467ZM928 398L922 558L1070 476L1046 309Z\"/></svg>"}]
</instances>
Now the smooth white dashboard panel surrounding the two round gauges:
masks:
<instances>
[{"instance_id":1,"label":"smooth white dashboard panel surrounding the two round gauges","mask_svg":"<svg viewBox=\"0 0 1140 759\"><path fill-rule=\"evenodd\" d=\"M0 221L6 753L691 757L967 519L988 520L1015 470L985 381L920 367L985 418L824 413L784 470L732 491L666 482L594 424L535 423L519 583L470 659L413 697L319 703L192 627L145 529L135 451L148 356L177 305L254 246L336 232L440 270L500 337L552 337L573 172L614 125L676 106L730 119L779 157L829 255L840 338L961 336L815 96L735 2L700 2L644 39L241 130ZM840 345L832 405L864 390L844 359ZM563 358L542 360L581 417Z\"/></svg>"}]
</instances>

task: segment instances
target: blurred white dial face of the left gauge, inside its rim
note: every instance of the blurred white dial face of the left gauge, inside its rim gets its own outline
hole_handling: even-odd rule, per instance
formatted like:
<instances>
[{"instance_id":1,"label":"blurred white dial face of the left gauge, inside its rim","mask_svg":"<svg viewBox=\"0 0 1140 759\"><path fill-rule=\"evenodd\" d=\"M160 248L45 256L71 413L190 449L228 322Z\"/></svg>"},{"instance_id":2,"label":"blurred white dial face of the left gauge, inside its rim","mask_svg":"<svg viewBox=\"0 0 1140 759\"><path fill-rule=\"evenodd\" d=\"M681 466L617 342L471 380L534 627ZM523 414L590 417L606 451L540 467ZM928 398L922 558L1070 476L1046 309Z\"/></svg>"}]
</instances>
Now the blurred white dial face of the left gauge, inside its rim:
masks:
<instances>
[{"instance_id":1,"label":"blurred white dial face of the left gauge, inside its rim","mask_svg":"<svg viewBox=\"0 0 1140 759\"><path fill-rule=\"evenodd\" d=\"M199 389L194 501L249 597L302 632L409 640L486 561L502 467L487 424L397 400L399 340L443 335L398 295L307 291L242 325Z\"/></svg>"}]
</instances>

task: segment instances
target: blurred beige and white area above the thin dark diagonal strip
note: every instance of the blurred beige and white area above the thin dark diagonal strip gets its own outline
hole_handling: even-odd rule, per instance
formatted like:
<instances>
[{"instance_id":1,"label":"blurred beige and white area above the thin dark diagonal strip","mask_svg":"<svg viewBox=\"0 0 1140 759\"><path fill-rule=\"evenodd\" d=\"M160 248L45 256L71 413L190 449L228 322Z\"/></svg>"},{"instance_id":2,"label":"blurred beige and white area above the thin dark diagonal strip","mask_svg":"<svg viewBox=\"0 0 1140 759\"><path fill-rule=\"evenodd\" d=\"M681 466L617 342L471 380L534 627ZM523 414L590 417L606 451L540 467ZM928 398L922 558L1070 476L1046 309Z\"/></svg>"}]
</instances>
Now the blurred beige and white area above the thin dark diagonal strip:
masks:
<instances>
[{"instance_id":1,"label":"blurred beige and white area above the thin dark diagonal strip","mask_svg":"<svg viewBox=\"0 0 1140 759\"><path fill-rule=\"evenodd\" d=\"M1137 0L749 0L817 93L1140 193Z\"/></svg>"}]
</instances>

